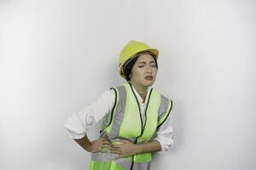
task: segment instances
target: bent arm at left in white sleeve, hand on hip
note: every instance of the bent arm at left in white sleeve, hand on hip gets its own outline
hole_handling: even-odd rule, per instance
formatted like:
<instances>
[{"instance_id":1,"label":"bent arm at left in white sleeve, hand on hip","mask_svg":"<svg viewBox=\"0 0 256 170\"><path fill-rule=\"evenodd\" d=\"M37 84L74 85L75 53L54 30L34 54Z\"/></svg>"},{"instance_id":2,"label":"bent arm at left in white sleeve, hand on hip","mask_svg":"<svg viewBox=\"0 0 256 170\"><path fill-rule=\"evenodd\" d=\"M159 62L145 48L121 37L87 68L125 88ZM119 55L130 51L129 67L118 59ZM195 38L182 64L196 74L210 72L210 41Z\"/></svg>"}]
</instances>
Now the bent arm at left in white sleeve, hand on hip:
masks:
<instances>
[{"instance_id":1,"label":"bent arm at left in white sleeve, hand on hip","mask_svg":"<svg viewBox=\"0 0 256 170\"><path fill-rule=\"evenodd\" d=\"M91 126L102 120L102 117L112 110L114 95L113 90L108 90L98 97L96 102L86 105L79 111L74 111L72 116L68 117L64 127L67 129L68 135L84 150L94 152L100 150L100 146L103 144L109 143L105 139L90 141L86 133Z\"/></svg>"}]
</instances>

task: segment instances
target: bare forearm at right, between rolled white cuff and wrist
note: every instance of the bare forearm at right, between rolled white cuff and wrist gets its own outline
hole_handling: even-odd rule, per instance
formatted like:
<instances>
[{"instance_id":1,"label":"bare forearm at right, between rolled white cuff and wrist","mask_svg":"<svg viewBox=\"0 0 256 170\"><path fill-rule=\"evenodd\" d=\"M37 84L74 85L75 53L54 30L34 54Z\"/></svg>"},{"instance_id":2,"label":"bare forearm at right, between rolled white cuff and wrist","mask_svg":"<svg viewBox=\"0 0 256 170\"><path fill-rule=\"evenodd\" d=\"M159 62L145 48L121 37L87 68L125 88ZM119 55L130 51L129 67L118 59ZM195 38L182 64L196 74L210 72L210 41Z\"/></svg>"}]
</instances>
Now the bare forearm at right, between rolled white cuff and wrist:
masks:
<instances>
[{"instance_id":1,"label":"bare forearm at right, between rolled white cuff and wrist","mask_svg":"<svg viewBox=\"0 0 256 170\"><path fill-rule=\"evenodd\" d=\"M137 144L136 147L137 147L136 154L155 152L155 151L161 150L161 145L160 145L159 141L157 141L157 140L151 140L144 144Z\"/></svg>"}]
</instances>

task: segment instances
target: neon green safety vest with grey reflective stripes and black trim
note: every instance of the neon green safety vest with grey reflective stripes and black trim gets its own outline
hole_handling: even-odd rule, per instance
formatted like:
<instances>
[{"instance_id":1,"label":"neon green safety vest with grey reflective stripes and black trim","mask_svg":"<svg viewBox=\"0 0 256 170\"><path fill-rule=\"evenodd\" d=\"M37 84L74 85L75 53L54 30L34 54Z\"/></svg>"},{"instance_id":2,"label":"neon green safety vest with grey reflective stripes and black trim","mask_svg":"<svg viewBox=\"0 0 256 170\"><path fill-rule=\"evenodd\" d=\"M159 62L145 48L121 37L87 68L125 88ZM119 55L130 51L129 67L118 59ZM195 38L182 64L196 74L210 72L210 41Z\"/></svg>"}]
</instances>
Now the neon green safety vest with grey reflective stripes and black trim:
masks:
<instances>
[{"instance_id":1,"label":"neon green safety vest with grey reflective stripes and black trim","mask_svg":"<svg viewBox=\"0 0 256 170\"><path fill-rule=\"evenodd\" d=\"M119 140L142 144L154 139L156 131L172 111L172 99L167 99L151 88L143 124L142 113L131 82L110 89L115 92L115 102L111 113L103 118L100 138L108 138L113 144L119 144ZM117 156L108 152L92 153L90 170L144 170L150 168L152 160L152 153L116 159Z\"/></svg>"}]
</instances>

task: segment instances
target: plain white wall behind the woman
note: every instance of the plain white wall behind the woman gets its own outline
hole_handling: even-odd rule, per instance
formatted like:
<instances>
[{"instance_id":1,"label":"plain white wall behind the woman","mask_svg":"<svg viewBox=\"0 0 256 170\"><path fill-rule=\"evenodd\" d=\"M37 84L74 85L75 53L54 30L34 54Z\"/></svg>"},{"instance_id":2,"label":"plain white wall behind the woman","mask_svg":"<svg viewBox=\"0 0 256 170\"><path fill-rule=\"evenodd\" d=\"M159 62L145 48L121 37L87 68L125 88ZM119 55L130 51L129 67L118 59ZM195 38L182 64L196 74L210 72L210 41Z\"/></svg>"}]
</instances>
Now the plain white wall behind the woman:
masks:
<instances>
[{"instance_id":1,"label":"plain white wall behind the woman","mask_svg":"<svg viewBox=\"0 0 256 170\"><path fill-rule=\"evenodd\" d=\"M124 79L121 48L160 49L174 142L152 169L256 169L253 0L0 0L0 169L83 170L73 111ZM98 126L92 127L95 139Z\"/></svg>"}]
</instances>

